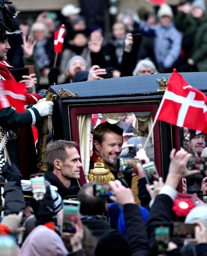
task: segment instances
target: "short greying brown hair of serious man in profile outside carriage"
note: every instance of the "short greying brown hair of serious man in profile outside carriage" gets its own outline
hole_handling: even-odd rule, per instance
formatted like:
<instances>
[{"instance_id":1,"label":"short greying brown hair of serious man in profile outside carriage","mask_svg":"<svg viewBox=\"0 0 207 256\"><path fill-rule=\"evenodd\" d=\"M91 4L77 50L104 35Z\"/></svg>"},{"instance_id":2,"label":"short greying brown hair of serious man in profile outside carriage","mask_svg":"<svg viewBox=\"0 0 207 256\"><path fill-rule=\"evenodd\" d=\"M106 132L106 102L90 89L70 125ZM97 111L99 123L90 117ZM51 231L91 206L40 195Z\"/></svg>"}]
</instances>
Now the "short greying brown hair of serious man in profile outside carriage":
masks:
<instances>
[{"instance_id":1,"label":"short greying brown hair of serious man in profile outside carriage","mask_svg":"<svg viewBox=\"0 0 207 256\"><path fill-rule=\"evenodd\" d=\"M55 140L47 144L45 151L45 164L49 172L54 171L54 161L59 159L62 162L65 162L67 158L66 147L76 147L77 144L74 141L68 140Z\"/></svg>"}]
</instances>

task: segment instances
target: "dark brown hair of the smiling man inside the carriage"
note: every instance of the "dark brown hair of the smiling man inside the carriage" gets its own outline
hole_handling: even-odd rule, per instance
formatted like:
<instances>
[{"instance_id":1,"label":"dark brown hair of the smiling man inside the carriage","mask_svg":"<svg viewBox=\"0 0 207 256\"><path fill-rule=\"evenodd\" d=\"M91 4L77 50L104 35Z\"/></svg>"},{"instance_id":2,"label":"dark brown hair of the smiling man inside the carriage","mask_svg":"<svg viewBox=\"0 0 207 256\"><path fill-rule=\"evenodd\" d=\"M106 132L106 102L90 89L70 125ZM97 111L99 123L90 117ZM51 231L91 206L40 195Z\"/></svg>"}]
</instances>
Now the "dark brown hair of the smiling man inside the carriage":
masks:
<instances>
[{"instance_id":1,"label":"dark brown hair of the smiling man inside the carriage","mask_svg":"<svg viewBox=\"0 0 207 256\"><path fill-rule=\"evenodd\" d=\"M100 144L104 140L104 134L107 132L114 132L118 135L123 136L123 129L117 124L109 124L108 122L99 124L96 126L93 132L93 141L97 140ZM93 152L95 151L95 146L93 145Z\"/></svg>"}]
</instances>

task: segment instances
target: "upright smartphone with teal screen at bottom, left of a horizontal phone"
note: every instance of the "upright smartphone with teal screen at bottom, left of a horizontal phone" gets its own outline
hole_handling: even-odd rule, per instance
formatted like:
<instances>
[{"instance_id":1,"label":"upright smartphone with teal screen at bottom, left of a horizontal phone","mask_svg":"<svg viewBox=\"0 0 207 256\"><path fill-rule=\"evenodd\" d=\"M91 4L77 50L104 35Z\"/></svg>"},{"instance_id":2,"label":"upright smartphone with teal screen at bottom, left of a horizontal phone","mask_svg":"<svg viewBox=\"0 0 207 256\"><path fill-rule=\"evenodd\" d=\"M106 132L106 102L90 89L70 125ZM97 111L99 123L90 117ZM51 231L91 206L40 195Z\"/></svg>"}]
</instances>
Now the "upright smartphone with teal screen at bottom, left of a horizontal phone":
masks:
<instances>
[{"instance_id":1,"label":"upright smartphone with teal screen at bottom, left of a horizontal phone","mask_svg":"<svg viewBox=\"0 0 207 256\"><path fill-rule=\"evenodd\" d=\"M154 230L155 234L155 250L157 254L165 253L170 242L170 227L160 226Z\"/></svg>"}]
</instances>

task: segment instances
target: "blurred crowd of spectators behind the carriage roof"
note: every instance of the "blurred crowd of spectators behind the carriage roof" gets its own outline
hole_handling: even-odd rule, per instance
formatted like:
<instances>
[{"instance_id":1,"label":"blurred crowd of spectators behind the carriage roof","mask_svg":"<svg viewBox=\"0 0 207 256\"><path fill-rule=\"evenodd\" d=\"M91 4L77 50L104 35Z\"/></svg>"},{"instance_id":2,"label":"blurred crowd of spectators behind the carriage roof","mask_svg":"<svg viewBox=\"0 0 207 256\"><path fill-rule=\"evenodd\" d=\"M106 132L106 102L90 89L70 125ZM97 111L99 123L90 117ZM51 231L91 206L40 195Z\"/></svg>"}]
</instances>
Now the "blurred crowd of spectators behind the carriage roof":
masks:
<instances>
[{"instance_id":1,"label":"blurred crowd of spectators behind the carriage roof","mask_svg":"<svg viewBox=\"0 0 207 256\"><path fill-rule=\"evenodd\" d=\"M22 9L15 20L23 35L36 41L36 90L48 85L48 74L49 85L52 79L56 84L71 83L76 71L90 70L93 65L113 68L113 77L144 75L151 69L154 73L168 73L173 68L178 72L207 71L204 0L167 1L162 5L137 1L133 8L130 1L127 6L122 3L125 1L94 4L80 0L67 2L57 10L51 1L47 9L43 3L41 11L34 3L28 7L32 10L26 11L23 2L15 1L8 8L12 13ZM50 72L55 58L54 31L61 24L66 28L63 51L58 55L56 69ZM11 36L9 44L7 60L14 68L23 67L22 35ZM75 56L82 59L76 58L74 64L71 58ZM79 81L84 80L78 77L75 82Z\"/></svg>"}]
</instances>

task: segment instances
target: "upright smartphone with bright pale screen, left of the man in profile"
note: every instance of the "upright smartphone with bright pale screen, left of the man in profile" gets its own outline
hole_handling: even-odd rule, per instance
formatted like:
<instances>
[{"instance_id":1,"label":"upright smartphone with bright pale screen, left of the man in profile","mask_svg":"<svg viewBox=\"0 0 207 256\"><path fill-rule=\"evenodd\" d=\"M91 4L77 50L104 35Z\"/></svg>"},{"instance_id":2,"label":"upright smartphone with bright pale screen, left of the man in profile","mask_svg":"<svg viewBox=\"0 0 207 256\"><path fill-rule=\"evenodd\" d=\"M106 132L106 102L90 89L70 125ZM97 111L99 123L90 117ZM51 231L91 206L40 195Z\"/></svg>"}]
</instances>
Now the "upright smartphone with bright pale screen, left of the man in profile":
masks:
<instances>
[{"instance_id":1,"label":"upright smartphone with bright pale screen, left of the man in profile","mask_svg":"<svg viewBox=\"0 0 207 256\"><path fill-rule=\"evenodd\" d=\"M43 173L35 173L30 175L33 197L38 201L42 200L46 193L46 184Z\"/></svg>"}]
</instances>

